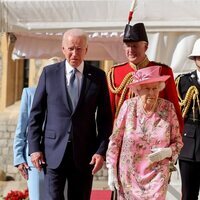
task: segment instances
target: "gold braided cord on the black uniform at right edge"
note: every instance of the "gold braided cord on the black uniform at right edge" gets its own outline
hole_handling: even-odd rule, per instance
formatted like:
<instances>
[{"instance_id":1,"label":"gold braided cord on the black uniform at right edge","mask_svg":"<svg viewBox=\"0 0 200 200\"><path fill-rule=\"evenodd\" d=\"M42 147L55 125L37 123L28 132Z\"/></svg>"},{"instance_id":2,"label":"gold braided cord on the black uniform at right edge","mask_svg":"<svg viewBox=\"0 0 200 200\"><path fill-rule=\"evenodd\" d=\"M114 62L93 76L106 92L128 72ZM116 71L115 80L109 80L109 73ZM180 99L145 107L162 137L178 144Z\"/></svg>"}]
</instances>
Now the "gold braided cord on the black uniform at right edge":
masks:
<instances>
[{"instance_id":1,"label":"gold braided cord on the black uniform at right edge","mask_svg":"<svg viewBox=\"0 0 200 200\"><path fill-rule=\"evenodd\" d=\"M197 106L199 108L199 112L200 112L200 104L199 104L199 91L197 89L196 86L190 86L186 95L185 95L185 98L182 99L181 98L181 95L179 93L179 81L180 81L180 76L175 80L175 83L176 83L176 89L177 89L177 93L178 93L178 99L179 99L179 105L181 107L181 111L182 111L182 117L185 118L188 110L189 110L189 107L191 105L191 102L193 100L193 106L192 106L192 111L193 111L193 120L195 119L195 104L197 102Z\"/></svg>"}]
</instances>

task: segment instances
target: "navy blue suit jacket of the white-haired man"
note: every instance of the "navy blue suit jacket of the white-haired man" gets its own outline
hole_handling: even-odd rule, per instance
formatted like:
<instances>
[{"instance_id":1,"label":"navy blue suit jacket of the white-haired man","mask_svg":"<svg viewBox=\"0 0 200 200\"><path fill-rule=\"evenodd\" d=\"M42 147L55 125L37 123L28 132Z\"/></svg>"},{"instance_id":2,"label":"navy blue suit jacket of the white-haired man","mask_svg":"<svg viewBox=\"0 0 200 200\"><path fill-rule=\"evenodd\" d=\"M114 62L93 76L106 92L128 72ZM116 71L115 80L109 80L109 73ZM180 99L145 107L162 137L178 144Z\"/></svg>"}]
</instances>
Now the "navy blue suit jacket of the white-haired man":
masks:
<instances>
[{"instance_id":1,"label":"navy blue suit jacket of the white-haired man","mask_svg":"<svg viewBox=\"0 0 200 200\"><path fill-rule=\"evenodd\" d=\"M111 108L105 72L84 64L81 94L72 113L63 61L45 67L41 74L30 113L29 153L44 152L48 167L55 169L71 132L74 162L79 168L88 167L94 153L106 153L112 132Z\"/></svg>"}]
</instances>

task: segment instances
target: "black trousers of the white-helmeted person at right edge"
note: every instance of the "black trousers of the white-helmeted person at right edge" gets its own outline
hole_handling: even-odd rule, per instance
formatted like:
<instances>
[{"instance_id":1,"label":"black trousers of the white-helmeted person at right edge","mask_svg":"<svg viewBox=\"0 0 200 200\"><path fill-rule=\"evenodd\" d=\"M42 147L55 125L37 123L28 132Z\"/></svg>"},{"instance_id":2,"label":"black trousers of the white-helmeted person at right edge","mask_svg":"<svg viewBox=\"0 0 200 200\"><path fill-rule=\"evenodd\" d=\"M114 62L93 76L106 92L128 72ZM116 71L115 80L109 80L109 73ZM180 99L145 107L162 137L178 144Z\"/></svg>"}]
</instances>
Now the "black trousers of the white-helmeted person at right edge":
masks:
<instances>
[{"instance_id":1,"label":"black trousers of the white-helmeted person at right edge","mask_svg":"<svg viewBox=\"0 0 200 200\"><path fill-rule=\"evenodd\" d=\"M182 182L182 200L198 200L200 189L200 162L179 160Z\"/></svg>"}]
</instances>

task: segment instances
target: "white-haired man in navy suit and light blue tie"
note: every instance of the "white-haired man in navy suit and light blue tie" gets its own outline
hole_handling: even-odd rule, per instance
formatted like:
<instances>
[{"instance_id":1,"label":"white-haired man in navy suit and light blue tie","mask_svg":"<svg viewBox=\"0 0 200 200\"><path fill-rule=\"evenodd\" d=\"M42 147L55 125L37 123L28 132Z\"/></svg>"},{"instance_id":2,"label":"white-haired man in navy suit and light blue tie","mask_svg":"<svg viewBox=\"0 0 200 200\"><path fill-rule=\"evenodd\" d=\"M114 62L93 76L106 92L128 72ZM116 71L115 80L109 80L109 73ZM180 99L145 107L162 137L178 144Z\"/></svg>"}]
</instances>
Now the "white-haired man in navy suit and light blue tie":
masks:
<instances>
[{"instance_id":1,"label":"white-haired man in navy suit and light blue tie","mask_svg":"<svg viewBox=\"0 0 200 200\"><path fill-rule=\"evenodd\" d=\"M105 73L84 62L88 37L64 33L63 62L44 68L30 114L28 141L33 164L45 170L45 200L89 200L112 131ZM45 124L43 125L43 121Z\"/></svg>"}]
</instances>

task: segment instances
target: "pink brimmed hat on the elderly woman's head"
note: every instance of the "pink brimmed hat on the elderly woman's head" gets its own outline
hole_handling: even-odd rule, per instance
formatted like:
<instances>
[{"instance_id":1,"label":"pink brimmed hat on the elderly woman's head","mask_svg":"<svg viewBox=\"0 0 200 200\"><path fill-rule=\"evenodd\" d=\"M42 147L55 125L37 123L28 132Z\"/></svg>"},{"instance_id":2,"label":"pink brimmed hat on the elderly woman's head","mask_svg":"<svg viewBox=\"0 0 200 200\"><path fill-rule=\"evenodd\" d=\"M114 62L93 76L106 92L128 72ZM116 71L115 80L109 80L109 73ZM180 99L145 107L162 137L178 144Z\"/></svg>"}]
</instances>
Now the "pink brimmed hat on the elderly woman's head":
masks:
<instances>
[{"instance_id":1,"label":"pink brimmed hat on the elderly woman's head","mask_svg":"<svg viewBox=\"0 0 200 200\"><path fill-rule=\"evenodd\" d=\"M169 75L160 75L161 66L152 66L139 69L133 72L133 81L128 85L128 87L135 87L142 84L155 83L155 82L165 82Z\"/></svg>"}]
</instances>

